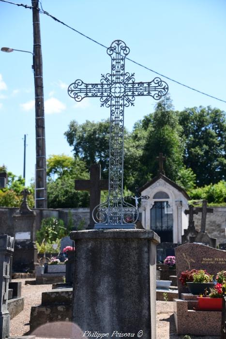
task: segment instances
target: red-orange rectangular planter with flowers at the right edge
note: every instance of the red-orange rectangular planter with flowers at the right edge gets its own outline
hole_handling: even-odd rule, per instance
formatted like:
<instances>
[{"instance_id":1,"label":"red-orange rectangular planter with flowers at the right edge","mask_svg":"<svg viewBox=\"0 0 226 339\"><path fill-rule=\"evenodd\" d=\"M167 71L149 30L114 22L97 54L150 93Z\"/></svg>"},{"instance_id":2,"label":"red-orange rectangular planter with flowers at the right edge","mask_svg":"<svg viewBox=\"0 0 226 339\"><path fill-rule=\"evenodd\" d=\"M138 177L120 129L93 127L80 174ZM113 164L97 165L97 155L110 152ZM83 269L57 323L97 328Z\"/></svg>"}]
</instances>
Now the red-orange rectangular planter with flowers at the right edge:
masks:
<instances>
[{"instance_id":1,"label":"red-orange rectangular planter with flowers at the right edge","mask_svg":"<svg viewBox=\"0 0 226 339\"><path fill-rule=\"evenodd\" d=\"M225 286L216 283L214 288L211 289L209 295L200 295L198 299L198 310L202 311L221 311L223 305L223 295L225 293Z\"/></svg>"}]
</instances>

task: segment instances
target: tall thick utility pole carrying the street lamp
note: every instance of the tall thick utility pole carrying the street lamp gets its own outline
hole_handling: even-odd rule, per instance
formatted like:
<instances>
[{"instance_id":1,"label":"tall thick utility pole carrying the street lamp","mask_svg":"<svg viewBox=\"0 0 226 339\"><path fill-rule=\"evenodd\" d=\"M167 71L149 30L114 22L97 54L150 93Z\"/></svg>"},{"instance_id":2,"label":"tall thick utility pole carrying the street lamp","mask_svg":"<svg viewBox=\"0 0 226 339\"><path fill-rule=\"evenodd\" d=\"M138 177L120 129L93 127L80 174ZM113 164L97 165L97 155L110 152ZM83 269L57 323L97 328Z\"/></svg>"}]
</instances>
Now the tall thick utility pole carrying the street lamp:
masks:
<instances>
[{"instance_id":1,"label":"tall thick utility pole carrying the street lamp","mask_svg":"<svg viewBox=\"0 0 226 339\"><path fill-rule=\"evenodd\" d=\"M46 157L45 157L45 115L43 94L43 64L40 36L38 0L31 0L33 15L33 67L35 87L35 130L36 130L36 175L35 208L47 208Z\"/></svg>"}]
</instances>

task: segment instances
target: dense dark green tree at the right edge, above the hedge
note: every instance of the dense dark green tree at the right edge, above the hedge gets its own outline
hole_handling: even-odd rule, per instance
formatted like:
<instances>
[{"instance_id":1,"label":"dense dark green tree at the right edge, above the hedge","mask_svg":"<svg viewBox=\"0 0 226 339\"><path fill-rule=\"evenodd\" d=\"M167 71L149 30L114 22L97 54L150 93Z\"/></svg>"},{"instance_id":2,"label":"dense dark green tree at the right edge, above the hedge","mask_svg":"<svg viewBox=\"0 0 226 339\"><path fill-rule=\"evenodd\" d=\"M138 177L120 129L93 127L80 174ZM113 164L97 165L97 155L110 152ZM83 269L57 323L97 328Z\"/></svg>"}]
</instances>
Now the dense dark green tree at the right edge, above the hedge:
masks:
<instances>
[{"instance_id":1,"label":"dense dark green tree at the right edge, above the hedge","mask_svg":"<svg viewBox=\"0 0 226 339\"><path fill-rule=\"evenodd\" d=\"M218 108L185 108L178 112L183 128L184 164L196 174L198 186L226 177L226 117Z\"/></svg>"}]
</instances>

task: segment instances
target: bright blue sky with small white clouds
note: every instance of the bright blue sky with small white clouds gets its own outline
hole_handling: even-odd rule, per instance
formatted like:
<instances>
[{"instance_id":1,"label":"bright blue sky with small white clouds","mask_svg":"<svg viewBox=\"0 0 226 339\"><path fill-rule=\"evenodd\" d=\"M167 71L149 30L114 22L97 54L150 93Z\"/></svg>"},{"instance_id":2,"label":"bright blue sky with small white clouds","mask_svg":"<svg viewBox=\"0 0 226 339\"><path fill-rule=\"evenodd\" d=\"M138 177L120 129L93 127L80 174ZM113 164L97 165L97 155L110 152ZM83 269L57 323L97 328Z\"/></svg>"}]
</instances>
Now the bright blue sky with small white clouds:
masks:
<instances>
[{"instance_id":1,"label":"bright blue sky with small white clouds","mask_svg":"<svg viewBox=\"0 0 226 339\"><path fill-rule=\"evenodd\" d=\"M16 1L15 1L16 2ZM21 1L18 1L21 3ZM28 5L31 1L24 2ZM69 26L110 46L116 39L130 48L129 58L226 100L226 2L224 0L43 0L45 11ZM40 14L45 97L46 155L72 155L63 133L71 120L100 121L109 117L98 98L80 103L69 97L75 81L99 82L110 72L105 48ZM33 50L32 11L0 2L0 47ZM27 134L26 184L34 177L34 80L29 53L0 52L0 165L23 174L23 137ZM136 81L156 75L126 61L126 71ZM226 110L226 103L186 89L172 81L170 96L175 109L208 106ZM155 100L136 98L125 109L125 126L153 111Z\"/></svg>"}]
</instances>

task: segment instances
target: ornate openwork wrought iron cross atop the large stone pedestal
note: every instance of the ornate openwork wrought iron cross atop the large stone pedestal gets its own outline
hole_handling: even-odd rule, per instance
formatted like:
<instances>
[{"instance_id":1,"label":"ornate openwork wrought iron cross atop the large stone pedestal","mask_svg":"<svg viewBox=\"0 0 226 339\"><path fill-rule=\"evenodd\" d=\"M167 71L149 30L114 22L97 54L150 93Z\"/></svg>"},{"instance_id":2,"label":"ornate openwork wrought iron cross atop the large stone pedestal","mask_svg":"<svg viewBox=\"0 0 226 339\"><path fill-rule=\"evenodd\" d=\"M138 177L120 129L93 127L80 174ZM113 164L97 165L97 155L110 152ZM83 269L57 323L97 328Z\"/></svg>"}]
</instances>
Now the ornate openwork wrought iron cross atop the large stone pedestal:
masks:
<instances>
[{"instance_id":1,"label":"ornate openwork wrought iron cross atop the large stone pedestal","mask_svg":"<svg viewBox=\"0 0 226 339\"><path fill-rule=\"evenodd\" d=\"M134 106L135 96L150 95L159 100L168 92L168 85L159 77L150 82L135 82L134 73L125 73L129 51L123 41L113 41L107 48L111 73L102 75L100 83L87 84L78 79L68 88L75 101L100 97L101 107L110 108L108 199L92 212L95 228L135 228L138 211L123 198L124 107Z\"/></svg>"}]
</instances>

